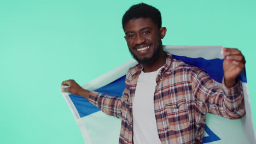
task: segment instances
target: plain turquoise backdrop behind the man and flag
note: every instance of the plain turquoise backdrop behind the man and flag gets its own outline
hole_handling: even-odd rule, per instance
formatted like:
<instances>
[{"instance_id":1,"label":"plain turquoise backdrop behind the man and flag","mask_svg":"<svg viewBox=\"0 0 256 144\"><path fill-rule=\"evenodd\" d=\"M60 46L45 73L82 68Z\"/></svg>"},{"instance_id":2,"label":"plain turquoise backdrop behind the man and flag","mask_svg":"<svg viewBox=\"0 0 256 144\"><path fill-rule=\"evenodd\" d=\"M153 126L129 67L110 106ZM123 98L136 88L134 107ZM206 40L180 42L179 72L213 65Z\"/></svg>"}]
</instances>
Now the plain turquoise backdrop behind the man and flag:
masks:
<instances>
[{"instance_id":1,"label":"plain turquoise backdrop behind the man and flag","mask_svg":"<svg viewBox=\"0 0 256 144\"><path fill-rule=\"evenodd\" d=\"M121 17L138 2L0 1L0 143L84 143L61 82L84 85L131 59ZM161 11L165 45L242 51L255 124L256 1L143 2Z\"/></svg>"}]
</instances>

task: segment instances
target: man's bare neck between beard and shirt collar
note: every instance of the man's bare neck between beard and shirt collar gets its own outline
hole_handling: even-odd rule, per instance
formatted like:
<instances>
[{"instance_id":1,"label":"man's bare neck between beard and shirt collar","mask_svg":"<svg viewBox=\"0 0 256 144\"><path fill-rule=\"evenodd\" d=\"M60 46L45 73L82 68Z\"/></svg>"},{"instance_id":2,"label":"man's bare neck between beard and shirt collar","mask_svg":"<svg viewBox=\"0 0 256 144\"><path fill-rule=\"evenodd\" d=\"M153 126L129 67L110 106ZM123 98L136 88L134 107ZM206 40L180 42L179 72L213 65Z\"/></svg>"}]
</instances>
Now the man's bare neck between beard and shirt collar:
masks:
<instances>
[{"instance_id":1,"label":"man's bare neck between beard and shirt collar","mask_svg":"<svg viewBox=\"0 0 256 144\"><path fill-rule=\"evenodd\" d=\"M143 71L144 73L156 71L159 68L161 68L163 65L165 65L165 63L166 63L166 53L164 51L161 51L154 62L143 65L144 67Z\"/></svg>"}]
</instances>

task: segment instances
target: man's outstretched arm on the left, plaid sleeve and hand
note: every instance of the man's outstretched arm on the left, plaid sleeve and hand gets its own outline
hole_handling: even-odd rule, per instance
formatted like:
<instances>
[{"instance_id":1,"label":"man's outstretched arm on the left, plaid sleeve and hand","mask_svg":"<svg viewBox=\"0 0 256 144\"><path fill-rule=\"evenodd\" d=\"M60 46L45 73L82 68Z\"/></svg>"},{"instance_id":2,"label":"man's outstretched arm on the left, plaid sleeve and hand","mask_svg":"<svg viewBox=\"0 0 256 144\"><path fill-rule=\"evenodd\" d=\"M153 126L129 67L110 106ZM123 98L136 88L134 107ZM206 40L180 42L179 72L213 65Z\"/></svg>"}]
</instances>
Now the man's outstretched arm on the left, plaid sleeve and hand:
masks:
<instances>
[{"instance_id":1,"label":"man's outstretched arm on the left, plaid sleeve and hand","mask_svg":"<svg viewBox=\"0 0 256 144\"><path fill-rule=\"evenodd\" d=\"M101 94L94 91L83 89L74 80L63 81L63 86L69 86L61 89L62 92L69 92L71 94L80 95L96 105L101 111L107 115L121 118L121 98L114 97L108 94Z\"/></svg>"}]
</instances>

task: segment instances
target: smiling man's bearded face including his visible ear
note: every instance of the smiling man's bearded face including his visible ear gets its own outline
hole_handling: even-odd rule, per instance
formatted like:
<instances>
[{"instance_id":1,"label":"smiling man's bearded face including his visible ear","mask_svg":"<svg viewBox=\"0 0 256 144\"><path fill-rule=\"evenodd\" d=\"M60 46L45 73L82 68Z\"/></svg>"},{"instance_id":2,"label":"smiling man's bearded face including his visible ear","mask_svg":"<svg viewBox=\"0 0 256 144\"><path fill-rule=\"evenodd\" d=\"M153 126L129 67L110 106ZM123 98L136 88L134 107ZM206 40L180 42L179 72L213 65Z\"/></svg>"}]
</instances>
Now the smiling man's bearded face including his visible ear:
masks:
<instances>
[{"instance_id":1,"label":"smiling man's bearded face including his visible ear","mask_svg":"<svg viewBox=\"0 0 256 144\"><path fill-rule=\"evenodd\" d=\"M136 61L143 64L155 61L162 50L161 38L165 36L165 27L158 28L150 18L138 18L128 21L124 31L129 50Z\"/></svg>"}]
</instances>

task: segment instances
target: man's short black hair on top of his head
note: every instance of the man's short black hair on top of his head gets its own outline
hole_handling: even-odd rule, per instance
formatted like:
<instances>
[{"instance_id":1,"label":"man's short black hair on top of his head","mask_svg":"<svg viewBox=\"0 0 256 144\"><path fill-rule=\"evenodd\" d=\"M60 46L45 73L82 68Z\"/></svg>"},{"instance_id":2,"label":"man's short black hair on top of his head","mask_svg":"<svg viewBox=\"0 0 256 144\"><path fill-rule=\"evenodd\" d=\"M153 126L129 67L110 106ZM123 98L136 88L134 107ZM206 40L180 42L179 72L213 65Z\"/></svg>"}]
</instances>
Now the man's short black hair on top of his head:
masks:
<instances>
[{"instance_id":1,"label":"man's short black hair on top of his head","mask_svg":"<svg viewBox=\"0 0 256 144\"><path fill-rule=\"evenodd\" d=\"M158 26L158 28L162 27L160 11L151 5L139 3L132 5L132 7L125 12L122 19L123 29L128 21L140 17L150 18Z\"/></svg>"}]
</instances>

